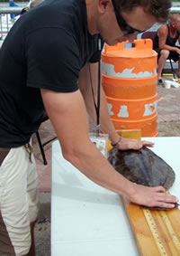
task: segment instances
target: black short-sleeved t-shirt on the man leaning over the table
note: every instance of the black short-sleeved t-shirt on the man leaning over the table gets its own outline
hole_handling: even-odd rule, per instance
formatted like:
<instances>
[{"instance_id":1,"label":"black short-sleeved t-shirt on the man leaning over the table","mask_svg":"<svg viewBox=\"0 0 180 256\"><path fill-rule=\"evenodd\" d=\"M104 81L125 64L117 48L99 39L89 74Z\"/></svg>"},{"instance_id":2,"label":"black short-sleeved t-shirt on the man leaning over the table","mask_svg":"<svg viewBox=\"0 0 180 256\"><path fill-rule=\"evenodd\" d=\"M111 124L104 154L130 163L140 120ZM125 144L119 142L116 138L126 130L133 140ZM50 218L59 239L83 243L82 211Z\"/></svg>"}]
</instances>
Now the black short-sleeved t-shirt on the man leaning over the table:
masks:
<instances>
[{"instance_id":1,"label":"black short-sleeved t-shirt on the man leaning over the table","mask_svg":"<svg viewBox=\"0 0 180 256\"><path fill-rule=\"evenodd\" d=\"M85 0L49 0L23 15L0 52L0 147L29 142L40 126L40 88L78 90L85 62L98 62L99 34L87 31Z\"/></svg>"}]
</instances>

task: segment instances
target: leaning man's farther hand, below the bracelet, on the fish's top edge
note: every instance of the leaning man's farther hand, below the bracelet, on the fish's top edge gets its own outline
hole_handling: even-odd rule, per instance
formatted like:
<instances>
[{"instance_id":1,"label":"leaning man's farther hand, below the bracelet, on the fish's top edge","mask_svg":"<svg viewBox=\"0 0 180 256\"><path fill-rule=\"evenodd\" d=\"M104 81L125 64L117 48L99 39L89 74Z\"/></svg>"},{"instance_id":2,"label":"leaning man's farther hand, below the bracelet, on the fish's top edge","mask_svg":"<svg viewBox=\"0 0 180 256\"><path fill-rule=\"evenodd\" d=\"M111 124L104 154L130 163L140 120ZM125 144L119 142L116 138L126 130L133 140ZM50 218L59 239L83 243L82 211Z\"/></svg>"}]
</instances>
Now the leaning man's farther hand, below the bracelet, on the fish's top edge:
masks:
<instances>
[{"instance_id":1,"label":"leaning man's farther hand, below the bracelet, on the fish's top edge","mask_svg":"<svg viewBox=\"0 0 180 256\"><path fill-rule=\"evenodd\" d=\"M120 150L135 149L139 150L142 147L153 147L154 143L146 140L137 140L131 138L122 138L121 142L117 145Z\"/></svg>"}]
</instances>

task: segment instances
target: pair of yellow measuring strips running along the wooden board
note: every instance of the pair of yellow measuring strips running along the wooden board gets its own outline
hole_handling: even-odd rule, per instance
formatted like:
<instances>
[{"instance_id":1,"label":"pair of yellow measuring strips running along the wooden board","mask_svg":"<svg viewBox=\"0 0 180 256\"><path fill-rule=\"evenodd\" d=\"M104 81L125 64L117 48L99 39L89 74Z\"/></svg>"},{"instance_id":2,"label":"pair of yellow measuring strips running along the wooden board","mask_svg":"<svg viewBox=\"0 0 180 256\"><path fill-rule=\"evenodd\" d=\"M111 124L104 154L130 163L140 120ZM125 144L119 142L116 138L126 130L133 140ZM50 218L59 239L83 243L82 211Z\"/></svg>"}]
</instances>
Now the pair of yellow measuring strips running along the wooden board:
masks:
<instances>
[{"instance_id":1,"label":"pair of yellow measuring strips running along the wooden board","mask_svg":"<svg viewBox=\"0 0 180 256\"><path fill-rule=\"evenodd\" d=\"M166 248L165 248L165 246L161 240L161 237L159 235L159 232L157 230L157 224L155 223L155 220L154 220L152 214L150 213L150 211L148 209L143 209L143 213L147 220L149 229L152 232L154 240L157 244L157 248L158 248L160 255L164 255L164 256L168 255L168 253L166 252ZM179 241L177 235L175 234L175 231L174 231L166 213L164 211L159 211L159 213L162 217L163 222L166 224L166 229L169 232L172 241L174 242L176 250L178 251L178 253L180 253L180 241ZM178 255L180 255L180 254L178 254Z\"/></svg>"}]
</instances>

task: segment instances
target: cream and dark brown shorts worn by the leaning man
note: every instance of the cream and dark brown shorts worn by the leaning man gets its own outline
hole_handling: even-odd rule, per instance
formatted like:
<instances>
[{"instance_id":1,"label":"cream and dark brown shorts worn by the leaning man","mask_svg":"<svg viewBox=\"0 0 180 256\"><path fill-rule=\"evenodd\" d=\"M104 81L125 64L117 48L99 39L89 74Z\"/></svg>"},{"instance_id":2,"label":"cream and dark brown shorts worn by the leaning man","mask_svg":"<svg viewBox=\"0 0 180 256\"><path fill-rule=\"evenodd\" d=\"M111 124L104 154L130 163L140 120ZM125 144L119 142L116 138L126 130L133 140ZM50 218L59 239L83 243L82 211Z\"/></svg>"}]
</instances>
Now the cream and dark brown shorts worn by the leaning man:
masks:
<instances>
[{"instance_id":1,"label":"cream and dark brown shorts worn by the leaning man","mask_svg":"<svg viewBox=\"0 0 180 256\"><path fill-rule=\"evenodd\" d=\"M31 247L30 223L37 219L39 200L36 164L30 153L24 146L11 148L0 166L0 255L20 256Z\"/></svg>"}]
</instances>

